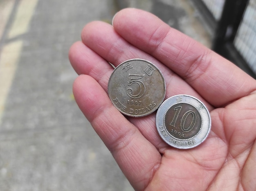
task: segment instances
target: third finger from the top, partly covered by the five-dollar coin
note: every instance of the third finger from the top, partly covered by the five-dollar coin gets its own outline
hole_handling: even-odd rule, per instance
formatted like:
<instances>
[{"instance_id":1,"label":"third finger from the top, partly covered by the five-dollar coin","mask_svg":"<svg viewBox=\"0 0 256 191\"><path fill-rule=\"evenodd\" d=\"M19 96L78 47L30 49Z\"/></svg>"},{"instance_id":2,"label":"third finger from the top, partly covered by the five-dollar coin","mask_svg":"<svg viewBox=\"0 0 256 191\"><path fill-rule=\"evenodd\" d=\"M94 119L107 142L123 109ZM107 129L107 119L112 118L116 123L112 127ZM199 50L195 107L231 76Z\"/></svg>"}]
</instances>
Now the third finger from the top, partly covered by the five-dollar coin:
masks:
<instances>
[{"instance_id":1,"label":"third finger from the top, partly covered by the five-dollar coin","mask_svg":"<svg viewBox=\"0 0 256 191\"><path fill-rule=\"evenodd\" d=\"M108 79L113 70L108 62L102 59L97 53L85 46L82 42L76 42L69 52L70 62L78 74L92 76L101 87L107 92ZM166 147L160 139L155 128L155 113L140 119L128 119L135 124L141 133L157 148ZM152 128L148 128L152 127Z\"/></svg>"}]
</instances>

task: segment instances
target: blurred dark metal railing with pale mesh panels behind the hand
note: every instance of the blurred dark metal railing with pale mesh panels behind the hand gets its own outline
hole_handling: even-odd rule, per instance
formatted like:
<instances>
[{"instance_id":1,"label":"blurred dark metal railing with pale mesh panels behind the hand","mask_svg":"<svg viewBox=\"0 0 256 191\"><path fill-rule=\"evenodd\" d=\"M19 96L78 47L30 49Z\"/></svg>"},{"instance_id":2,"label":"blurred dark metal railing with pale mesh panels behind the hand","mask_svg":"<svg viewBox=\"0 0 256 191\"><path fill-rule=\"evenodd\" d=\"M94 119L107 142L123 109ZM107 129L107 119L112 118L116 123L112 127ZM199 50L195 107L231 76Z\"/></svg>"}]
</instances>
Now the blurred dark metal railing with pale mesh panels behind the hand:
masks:
<instances>
[{"instance_id":1,"label":"blurred dark metal railing with pale mesh panels behind the hand","mask_svg":"<svg viewBox=\"0 0 256 191\"><path fill-rule=\"evenodd\" d=\"M256 79L256 0L192 0L213 35L212 49Z\"/></svg>"}]
</instances>

